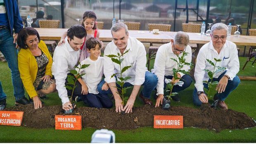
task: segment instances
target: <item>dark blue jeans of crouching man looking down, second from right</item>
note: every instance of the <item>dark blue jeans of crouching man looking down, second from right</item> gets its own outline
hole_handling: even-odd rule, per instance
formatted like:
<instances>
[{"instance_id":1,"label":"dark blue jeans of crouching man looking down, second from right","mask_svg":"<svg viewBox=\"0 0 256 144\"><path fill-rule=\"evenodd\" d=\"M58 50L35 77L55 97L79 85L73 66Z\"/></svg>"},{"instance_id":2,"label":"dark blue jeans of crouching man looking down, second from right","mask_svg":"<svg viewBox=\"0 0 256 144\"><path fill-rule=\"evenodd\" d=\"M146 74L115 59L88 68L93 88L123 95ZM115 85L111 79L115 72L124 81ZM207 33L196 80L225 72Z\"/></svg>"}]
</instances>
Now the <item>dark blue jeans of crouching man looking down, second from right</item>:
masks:
<instances>
[{"instance_id":1,"label":"dark blue jeans of crouching man looking down, second from right","mask_svg":"<svg viewBox=\"0 0 256 144\"><path fill-rule=\"evenodd\" d=\"M171 80L173 78L173 76L164 76L164 78L168 78ZM185 88L187 88L191 85L192 78L189 75L185 74L183 77L181 77L180 81L183 81L184 84L181 87L178 85L173 86L172 92L179 92L179 91L185 90ZM164 90L166 88L166 85L167 84L164 83Z\"/></svg>"}]
</instances>

